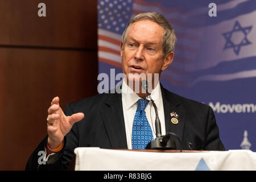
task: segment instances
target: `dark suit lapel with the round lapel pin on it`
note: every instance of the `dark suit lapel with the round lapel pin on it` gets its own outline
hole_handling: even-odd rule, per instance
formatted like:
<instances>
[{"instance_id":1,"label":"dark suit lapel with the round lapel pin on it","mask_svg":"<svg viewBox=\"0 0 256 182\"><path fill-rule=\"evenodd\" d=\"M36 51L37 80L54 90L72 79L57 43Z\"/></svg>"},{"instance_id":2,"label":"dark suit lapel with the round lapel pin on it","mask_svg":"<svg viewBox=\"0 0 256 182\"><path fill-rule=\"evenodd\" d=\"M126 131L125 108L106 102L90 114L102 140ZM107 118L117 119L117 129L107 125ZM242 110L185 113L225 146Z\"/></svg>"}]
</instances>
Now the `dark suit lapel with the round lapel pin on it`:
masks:
<instances>
[{"instance_id":1,"label":"dark suit lapel with the round lapel pin on it","mask_svg":"<svg viewBox=\"0 0 256 182\"><path fill-rule=\"evenodd\" d=\"M172 132L175 133L179 139L183 139L183 131L185 126L185 111L180 105L180 101L177 100L177 96L174 93L169 92L164 89L161 85L162 97L163 97L163 106L164 106L164 119L166 124L166 133ZM174 124L171 122L171 113L175 111L179 117L178 123Z\"/></svg>"}]
</instances>

